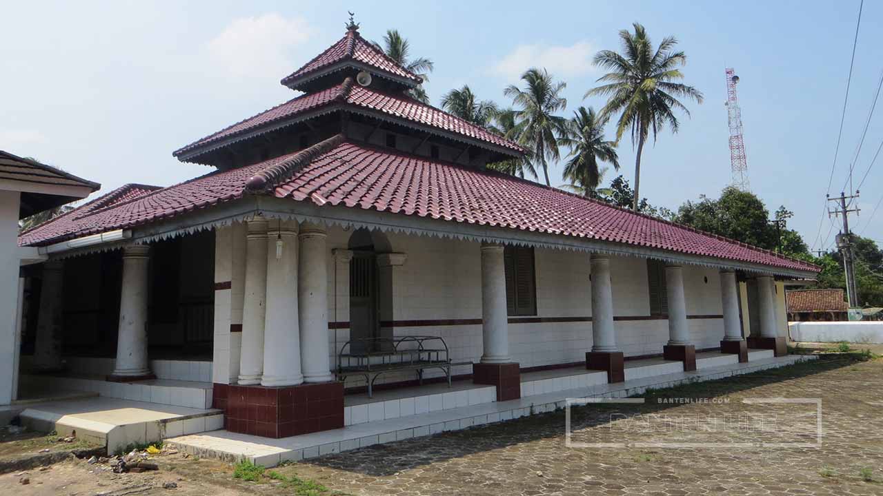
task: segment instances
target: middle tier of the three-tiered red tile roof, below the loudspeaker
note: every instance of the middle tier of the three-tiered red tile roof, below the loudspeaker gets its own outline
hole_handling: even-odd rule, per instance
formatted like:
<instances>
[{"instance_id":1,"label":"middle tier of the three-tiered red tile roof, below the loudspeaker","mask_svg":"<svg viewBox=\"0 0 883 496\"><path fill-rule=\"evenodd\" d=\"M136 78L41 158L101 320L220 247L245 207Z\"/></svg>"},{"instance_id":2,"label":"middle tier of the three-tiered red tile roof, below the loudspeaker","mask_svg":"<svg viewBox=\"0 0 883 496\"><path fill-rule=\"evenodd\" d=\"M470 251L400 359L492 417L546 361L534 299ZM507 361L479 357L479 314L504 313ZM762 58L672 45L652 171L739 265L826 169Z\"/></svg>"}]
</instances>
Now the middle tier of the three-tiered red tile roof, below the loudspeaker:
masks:
<instances>
[{"instance_id":1,"label":"middle tier of the three-tiered red tile roof, below the loudspeaker","mask_svg":"<svg viewBox=\"0 0 883 496\"><path fill-rule=\"evenodd\" d=\"M416 101L405 94L381 93L364 86L354 85L351 78L347 78L340 85L332 86L314 94L298 96L298 98L261 112L257 116L249 117L237 124L233 124L177 150L174 154L183 154L222 139L258 131L261 128L282 123L285 119L298 116L298 114L303 114L310 110L320 109L334 102L348 105L357 110L374 112L381 116L397 117L416 124L436 128L443 132L484 141L497 147L512 150L518 154L524 152L521 147L509 141L509 139L504 139L460 117L452 116L443 110Z\"/></svg>"}]
</instances>

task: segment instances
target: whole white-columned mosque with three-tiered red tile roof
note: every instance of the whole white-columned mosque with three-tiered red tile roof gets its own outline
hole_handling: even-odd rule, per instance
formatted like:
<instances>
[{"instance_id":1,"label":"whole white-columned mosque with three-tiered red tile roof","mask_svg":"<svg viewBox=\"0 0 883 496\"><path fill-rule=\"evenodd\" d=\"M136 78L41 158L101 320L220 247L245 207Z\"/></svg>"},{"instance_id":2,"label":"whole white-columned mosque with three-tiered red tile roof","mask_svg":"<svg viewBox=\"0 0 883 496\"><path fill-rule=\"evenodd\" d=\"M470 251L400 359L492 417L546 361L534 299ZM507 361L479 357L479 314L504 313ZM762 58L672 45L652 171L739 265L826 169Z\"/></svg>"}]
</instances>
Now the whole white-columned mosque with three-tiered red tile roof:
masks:
<instances>
[{"instance_id":1,"label":"whole white-columned mosque with three-tiered red tile roof","mask_svg":"<svg viewBox=\"0 0 883 496\"><path fill-rule=\"evenodd\" d=\"M23 233L49 257L24 346L49 375L29 380L279 438L449 408L348 399L372 386L505 402L530 372L787 353L783 284L819 267L494 172L525 150L415 101L420 82L351 25L282 80L303 94L174 153L204 176Z\"/></svg>"}]
</instances>

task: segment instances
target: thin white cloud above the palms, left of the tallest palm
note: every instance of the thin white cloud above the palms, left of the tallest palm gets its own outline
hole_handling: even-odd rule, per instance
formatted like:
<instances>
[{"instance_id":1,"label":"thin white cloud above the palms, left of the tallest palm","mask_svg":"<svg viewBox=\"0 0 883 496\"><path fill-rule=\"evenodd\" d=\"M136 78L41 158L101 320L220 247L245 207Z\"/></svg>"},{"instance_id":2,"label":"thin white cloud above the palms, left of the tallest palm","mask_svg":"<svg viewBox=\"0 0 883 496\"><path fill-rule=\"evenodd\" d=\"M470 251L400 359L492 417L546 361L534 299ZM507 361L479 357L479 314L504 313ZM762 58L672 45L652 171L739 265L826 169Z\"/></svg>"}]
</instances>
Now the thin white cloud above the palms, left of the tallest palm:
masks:
<instances>
[{"instance_id":1,"label":"thin white cloud above the palms, left of the tallest palm","mask_svg":"<svg viewBox=\"0 0 883 496\"><path fill-rule=\"evenodd\" d=\"M588 41L569 47L557 45L518 45L491 67L494 74L514 81L531 67L546 68L556 77L582 76L592 71L595 49Z\"/></svg>"}]
</instances>

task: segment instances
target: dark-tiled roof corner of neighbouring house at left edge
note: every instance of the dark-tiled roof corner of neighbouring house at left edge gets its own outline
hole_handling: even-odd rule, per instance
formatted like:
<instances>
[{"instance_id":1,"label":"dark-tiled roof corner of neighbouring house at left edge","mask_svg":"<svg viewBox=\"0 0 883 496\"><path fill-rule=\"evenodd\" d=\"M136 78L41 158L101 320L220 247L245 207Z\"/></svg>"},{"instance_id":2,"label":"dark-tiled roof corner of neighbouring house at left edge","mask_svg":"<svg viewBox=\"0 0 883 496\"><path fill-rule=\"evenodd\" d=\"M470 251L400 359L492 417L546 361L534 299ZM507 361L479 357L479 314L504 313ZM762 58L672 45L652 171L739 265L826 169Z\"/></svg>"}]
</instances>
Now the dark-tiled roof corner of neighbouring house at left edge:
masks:
<instances>
[{"instance_id":1,"label":"dark-tiled roof corner of neighbouring house at left edge","mask_svg":"<svg viewBox=\"0 0 883 496\"><path fill-rule=\"evenodd\" d=\"M32 159L0 150L0 181L21 193L19 218L85 198L101 184L87 181Z\"/></svg>"}]
</instances>

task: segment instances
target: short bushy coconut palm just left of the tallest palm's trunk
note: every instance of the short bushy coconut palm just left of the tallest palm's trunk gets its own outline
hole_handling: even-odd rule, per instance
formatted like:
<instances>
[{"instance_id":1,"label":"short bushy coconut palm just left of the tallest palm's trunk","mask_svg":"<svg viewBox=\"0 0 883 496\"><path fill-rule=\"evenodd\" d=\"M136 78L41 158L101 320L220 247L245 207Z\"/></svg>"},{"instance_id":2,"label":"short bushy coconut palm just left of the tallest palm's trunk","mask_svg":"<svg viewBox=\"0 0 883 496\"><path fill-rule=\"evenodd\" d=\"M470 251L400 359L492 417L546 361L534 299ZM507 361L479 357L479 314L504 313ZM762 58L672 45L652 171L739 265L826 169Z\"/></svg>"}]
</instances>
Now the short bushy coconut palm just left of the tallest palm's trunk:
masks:
<instances>
[{"instance_id":1,"label":"short bushy coconut palm just left of the tallest palm's trunk","mask_svg":"<svg viewBox=\"0 0 883 496\"><path fill-rule=\"evenodd\" d=\"M610 162L619 170L616 143L604 139L608 118L599 117L592 107L580 107L568 121L567 133L559 144L570 148L569 160L564 164L563 177L583 189L584 196L592 196L601 181L598 162Z\"/></svg>"}]
</instances>

